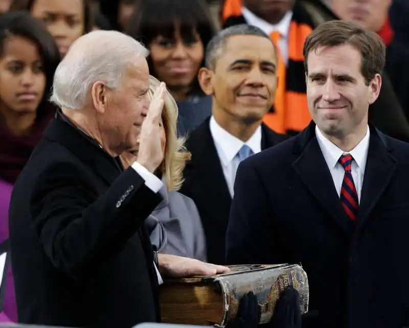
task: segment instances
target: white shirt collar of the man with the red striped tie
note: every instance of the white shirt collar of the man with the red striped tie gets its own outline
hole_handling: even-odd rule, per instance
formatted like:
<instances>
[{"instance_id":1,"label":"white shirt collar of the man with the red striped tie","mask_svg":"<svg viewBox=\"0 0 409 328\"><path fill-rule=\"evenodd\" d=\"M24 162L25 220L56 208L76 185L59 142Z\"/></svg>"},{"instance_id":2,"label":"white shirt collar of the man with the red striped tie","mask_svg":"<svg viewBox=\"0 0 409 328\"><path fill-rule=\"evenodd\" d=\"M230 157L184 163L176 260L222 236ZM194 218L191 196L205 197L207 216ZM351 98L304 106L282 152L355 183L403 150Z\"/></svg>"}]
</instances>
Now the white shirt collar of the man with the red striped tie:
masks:
<instances>
[{"instance_id":1,"label":"white shirt collar of the man with the red striped tie","mask_svg":"<svg viewBox=\"0 0 409 328\"><path fill-rule=\"evenodd\" d=\"M335 165L338 163L339 157L341 157L341 155L343 154L346 154L346 152L343 151L342 149L339 149L335 144L333 144L331 141L325 138L320 129L318 128L318 126L316 125L315 136L318 140L318 143L320 145L321 151L324 155L328 167L334 168ZM369 126L367 126L367 133L365 137L363 137L363 139L356 145L356 147L348 153L354 158L354 161L358 165L362 174L365 173L365 166L367 164L369 137L370 137Z\"/></svg>"}]
</instances>

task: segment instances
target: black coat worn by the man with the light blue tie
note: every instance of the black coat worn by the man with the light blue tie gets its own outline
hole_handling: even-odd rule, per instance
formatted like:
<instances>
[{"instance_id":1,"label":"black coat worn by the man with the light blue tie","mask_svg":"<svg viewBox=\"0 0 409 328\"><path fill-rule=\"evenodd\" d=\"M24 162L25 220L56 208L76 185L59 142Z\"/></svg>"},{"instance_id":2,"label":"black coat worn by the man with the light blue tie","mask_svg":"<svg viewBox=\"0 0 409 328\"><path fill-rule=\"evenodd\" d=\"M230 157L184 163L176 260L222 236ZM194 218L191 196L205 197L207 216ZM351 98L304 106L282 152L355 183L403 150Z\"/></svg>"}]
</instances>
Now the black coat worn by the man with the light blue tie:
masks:
<instances>
[{"instance_id":1,"label":"black coat worn by the man with the light blue tie","mask_svg":"<svg viewBox=\"0 0 409 328\"><path fill-rule=\"evenodd\" d=\"M195 202L205 230L208 261L224 263L224 244L232 196L224 178L216 146L210 132L210 118L191 133L186 147L192 160L184 170L180 189ZM272 147L287 136L275 133L262 124L261 149Z\"/></svg>"}]
</instances>

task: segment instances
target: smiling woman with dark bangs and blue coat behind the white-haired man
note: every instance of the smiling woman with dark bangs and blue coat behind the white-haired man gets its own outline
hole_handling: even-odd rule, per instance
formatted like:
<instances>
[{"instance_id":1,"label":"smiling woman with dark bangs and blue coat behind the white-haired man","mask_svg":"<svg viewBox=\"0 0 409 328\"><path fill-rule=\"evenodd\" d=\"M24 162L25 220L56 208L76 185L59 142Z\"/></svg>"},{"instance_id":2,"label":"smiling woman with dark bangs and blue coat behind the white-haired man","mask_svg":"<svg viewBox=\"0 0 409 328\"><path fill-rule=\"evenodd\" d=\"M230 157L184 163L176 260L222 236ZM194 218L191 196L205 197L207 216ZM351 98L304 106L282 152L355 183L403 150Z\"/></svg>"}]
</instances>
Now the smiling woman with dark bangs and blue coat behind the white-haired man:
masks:
<instances>
[{"instance_id":1,"label":"smiling woman with dark bangs and blue coat behind the white-haired man","mask_svg":"<svg viewBox=\"0 0 409 328\"><path fill-rule=\"evenodd\" d=\"M177 102L179 135L195 129L211 114L212 100L197 80L205 48L216 33L204 0L142 1L129 20L127 34L149 49L149 72L164 81Z\"/></svg>"}]
</instances>

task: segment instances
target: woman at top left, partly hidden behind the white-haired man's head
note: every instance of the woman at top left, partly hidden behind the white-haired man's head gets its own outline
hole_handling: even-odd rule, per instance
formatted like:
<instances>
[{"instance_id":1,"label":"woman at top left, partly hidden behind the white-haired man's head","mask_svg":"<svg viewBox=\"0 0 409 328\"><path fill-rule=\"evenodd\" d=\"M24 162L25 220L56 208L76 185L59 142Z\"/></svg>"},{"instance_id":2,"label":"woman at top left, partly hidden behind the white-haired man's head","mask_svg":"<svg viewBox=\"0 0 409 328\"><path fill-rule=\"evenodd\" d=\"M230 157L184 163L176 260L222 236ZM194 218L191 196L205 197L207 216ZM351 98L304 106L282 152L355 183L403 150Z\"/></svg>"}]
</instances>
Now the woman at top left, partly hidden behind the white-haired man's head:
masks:
<instances>
[{"instance_id":1,"label":"woman at top left, partly hidden behind the white-haired man's head","mask_svg":"<svg viewBox=\"0 0 409 328\"><path fill-rule=\"evenodd\" d=\"M94 28L90 0L13 0L9 11L21 10L44 21L61 57L76 39Z\"/></svg>"}]
</instances>

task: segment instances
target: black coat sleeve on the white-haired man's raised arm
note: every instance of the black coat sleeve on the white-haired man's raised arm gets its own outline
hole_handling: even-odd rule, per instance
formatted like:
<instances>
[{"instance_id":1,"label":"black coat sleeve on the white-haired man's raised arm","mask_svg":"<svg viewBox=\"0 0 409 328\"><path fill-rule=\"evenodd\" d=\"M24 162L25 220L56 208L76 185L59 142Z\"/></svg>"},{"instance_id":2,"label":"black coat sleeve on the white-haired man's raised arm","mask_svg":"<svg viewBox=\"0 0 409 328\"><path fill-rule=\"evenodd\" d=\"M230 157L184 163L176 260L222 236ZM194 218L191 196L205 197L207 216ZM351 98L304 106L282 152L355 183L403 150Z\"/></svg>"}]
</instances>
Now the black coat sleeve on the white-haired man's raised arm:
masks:
<instances>
[{"instance_id":1,"label":"black coat sleeve on the white-haired man's raised arm","mask_svg":"<svg viewBox=\"0 0 409 328\"><path fill-rule=\"evenodd\" d=\"M160 200L132 168L99 196L84 172L58 163L34 184L30 214L52 264L79 278L118 253Z\"/></svg>"}]
</instances>

